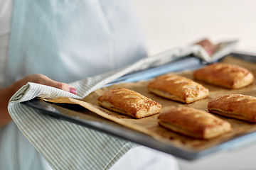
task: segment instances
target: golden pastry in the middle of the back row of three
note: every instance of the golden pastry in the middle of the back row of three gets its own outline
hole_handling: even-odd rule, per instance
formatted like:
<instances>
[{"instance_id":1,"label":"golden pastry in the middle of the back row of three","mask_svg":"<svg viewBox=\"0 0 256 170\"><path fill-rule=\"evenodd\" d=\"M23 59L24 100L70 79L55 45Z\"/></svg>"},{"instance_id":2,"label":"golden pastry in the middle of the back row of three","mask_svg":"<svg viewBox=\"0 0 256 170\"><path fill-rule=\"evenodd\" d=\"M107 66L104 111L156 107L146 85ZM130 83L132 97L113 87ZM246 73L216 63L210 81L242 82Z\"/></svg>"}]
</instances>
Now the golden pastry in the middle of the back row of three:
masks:
<instances>
[{"instance_id":1,"label":"golden pastry in the middle of the back row of three","mask_svg":"<svg viewBox=\"0 0 256 170\"><path fill-rule=\"evenodd\" d=\"M192 103L209 96L209 90L201 84L181 76L159 76L149 85L152 93L182 103Z\"/></svg>"}]
</instances>

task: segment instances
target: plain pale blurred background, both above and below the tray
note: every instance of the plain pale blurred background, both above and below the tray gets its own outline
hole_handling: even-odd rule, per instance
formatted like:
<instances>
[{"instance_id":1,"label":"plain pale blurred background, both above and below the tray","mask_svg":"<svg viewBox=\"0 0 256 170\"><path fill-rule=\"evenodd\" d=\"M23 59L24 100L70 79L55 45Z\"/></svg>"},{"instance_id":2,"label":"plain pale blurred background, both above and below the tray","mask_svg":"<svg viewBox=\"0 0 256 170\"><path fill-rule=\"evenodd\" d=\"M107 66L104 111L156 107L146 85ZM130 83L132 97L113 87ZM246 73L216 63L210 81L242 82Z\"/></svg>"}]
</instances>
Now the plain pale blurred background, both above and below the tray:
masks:
<instances>
[{"instance_id":1,"label":"plain pale blurred background, both above and below the tray","mask_svg":"<svg viewBox=\"0 0 256 170\"><path fill-rule=\"evenodd\" d=\"M149 55L193 44L239 40L236 50L256 55L255 0L132 0L149 48ZM187 162L181 170L256 169L256 141L242 148L218 152Z\"/></svg>"}]
</instances>

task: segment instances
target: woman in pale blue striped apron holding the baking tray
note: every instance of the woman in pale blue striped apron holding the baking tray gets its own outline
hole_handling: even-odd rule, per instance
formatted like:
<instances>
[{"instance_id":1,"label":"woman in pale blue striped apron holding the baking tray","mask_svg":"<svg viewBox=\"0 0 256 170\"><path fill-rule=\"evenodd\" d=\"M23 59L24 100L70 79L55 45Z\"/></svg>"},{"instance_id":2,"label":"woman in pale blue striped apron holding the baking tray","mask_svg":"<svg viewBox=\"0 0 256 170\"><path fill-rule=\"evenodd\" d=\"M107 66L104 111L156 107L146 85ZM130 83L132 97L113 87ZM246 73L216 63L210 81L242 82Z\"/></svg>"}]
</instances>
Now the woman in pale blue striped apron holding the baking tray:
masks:
<instances>
[{"instance_id":1,"label":"woman in pale blue striped apron holding the baking tray","mask_svg":"<svg viewBox=\"0 0 256 170\"><path fill-rule=\"evenodd\" d=\"M44 169L41 154L11 121L9 98L27 82L76 94L68 83L146 57L143 33L128 0L0 1L0 11L0 169ZM210 43L204 46L210 47L210 53ZM129 153L138 156L139 152L143 157L157 154L143 154L143 148L135 151ZM127 157L129 154L113 169L125 164ZM171 164L171 157L163 157L166 169L177 168Z\"/></svg>"}]
</instances>

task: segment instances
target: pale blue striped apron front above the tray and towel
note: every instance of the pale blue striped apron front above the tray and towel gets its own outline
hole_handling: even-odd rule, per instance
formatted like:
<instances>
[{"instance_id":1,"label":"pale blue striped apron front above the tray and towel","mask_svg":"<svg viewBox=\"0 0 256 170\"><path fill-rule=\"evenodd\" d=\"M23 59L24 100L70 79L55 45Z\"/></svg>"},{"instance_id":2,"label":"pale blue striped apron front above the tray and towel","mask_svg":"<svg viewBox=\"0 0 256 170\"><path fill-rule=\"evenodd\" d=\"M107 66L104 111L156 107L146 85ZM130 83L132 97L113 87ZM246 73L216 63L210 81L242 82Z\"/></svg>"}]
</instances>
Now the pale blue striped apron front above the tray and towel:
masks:
<instances>
[{"instance_id":1,"label":"pale blue striped apron front above the tray and towel","mask_svg":"<svg viewBox=\"0 0 256 170\"><path fill-rule=\"evenodd\" d=\"M18 9L16 9L18 7ZM146 56L129 1L14 1L6 86L29 74L70 83Z\"/></svg>"}]
</instances>

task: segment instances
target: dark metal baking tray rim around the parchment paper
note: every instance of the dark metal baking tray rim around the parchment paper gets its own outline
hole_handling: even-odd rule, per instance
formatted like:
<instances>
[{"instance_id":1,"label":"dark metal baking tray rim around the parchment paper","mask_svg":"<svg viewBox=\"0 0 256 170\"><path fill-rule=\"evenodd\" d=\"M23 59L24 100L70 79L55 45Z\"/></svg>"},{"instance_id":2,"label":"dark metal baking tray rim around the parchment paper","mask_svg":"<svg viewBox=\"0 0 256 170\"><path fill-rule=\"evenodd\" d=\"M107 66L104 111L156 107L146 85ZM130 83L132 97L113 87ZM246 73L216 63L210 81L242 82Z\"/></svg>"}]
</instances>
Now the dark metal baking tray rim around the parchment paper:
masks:
<instances>
[{"instance_id":1,"label":"dark metal baking tray rim around the parchment paper","mask_svg":"<svg viewBox=\"0 0 256 170\"><path fill-rule=\"evenodd\" d=\"M256 63L256 56L254 55L244 55L239 53L232 53L230 55L232 55L233 57L238 57L242 60ZM118 84L120 82L148 80L158 75L165 74L167 72L180 72L185 69L198 69L205 64L206 63L202 62L196 57L193 57L192 55L186 56L183 57L181 60L176 60L174 62L162 65L160 67L152 67L140 72L127 74L124 77L120 77L119 79L112 81L110 84L107 84L106 86L110 86L111 84ZM92 113L91 111L88 111L85 108L82 108L82 106L71 104L56 105L46 103L36 98L31 101L23 102L22 104L31 108L35 108L36 110L41 111L41 113L53 116L54 118L66 120L77 125L82 125L86 128L91 128L93 130L104 132L108 135L119 137L124 140L129 140L139 145L151 147L161 152L166 152L168 154L172 154L176 157L180 157L182 159L187 160L199 159L201 157L206 157L215 152L220 152L227 149L244 147L245 145L256 141L256 132L251 132L246 135L238 135L234 137L232 140L228 140L227 142L215 145L214 147L210 147L208 149L195 152L186 149L180 149L168 145L164 142L160 142L159 140L156 140L153 137L146 135L142 132L126 128L123 125L119 125L110 120L102 118L99 115Z\"/></svg>"}]
</instances>

